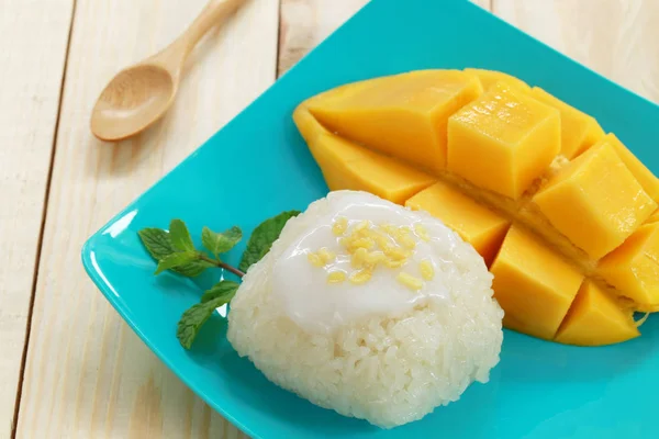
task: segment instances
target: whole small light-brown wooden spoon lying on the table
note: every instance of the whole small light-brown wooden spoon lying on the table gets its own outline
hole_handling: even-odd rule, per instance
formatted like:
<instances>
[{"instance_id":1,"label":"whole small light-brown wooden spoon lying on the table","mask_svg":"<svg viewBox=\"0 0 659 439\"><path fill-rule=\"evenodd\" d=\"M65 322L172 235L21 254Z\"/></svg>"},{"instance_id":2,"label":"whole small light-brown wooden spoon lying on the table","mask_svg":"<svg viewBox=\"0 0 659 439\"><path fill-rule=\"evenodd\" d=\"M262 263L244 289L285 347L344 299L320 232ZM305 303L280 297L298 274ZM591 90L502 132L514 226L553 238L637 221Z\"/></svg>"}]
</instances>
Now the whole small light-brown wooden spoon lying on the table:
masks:
<instances>
[{"instance_id":1,"label":"whole small light-brown wooden spoon lying on the table","mask_svg":"<svg viewBox=\"0 0 659 439\"><path fill-rule=\"evenodd\" d=\"M199 40L223 23L244 0L211 0L174 43L120 71L101 92L91 113L91 132L101 140L121 140L160 119L171 106L186 58Z\"/></svg>"}]
</instances>

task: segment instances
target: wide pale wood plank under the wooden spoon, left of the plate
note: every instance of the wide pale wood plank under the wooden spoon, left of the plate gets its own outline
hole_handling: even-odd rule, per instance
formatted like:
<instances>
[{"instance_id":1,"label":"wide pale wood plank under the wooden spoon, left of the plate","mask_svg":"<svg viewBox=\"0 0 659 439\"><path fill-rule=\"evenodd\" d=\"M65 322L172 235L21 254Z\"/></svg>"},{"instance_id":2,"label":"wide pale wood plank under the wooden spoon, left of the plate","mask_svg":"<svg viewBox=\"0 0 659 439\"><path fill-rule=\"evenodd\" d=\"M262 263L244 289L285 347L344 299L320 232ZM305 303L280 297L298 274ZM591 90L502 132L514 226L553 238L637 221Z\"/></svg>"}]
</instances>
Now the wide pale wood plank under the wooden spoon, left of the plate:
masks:
<instances>
[{"instance_id":1,"label":"wide pale wood plank under the wooden spoon, left of the plate","mask_svg":"<svg viewBox=\"0 0 659 439\"><path fill-rule=\"evenodd\" d=\"M204 3L78 0L20 438L243 437L146 348L80 264L89 235L275 80L279 3L250 1L198 47L160 124L119 145L92 138L89 115L107 81L161 48Z\"/></svg>"}]
</instances>

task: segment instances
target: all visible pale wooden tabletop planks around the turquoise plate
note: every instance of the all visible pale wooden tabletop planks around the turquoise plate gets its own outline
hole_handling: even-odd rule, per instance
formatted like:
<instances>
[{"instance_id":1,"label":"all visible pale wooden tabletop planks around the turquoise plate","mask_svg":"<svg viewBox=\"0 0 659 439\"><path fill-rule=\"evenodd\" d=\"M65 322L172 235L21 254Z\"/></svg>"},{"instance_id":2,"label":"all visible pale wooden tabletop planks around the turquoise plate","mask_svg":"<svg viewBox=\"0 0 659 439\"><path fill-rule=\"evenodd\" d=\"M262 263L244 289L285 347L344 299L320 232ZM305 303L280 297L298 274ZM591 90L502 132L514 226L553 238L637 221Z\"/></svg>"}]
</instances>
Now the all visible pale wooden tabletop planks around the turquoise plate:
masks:
<instances>
[{"instance_id":1,"label":"all visible pale wooden tabletop planks around the turquoise plate","mask_svg":"<svg viewBox=\"0 0 659 439\"><path fill-rule=\"evenodd\" d=\"M103 85L205 0L2 0L0 438L243 436L123 323L80 247L366 1L252 0L198 47L165 120L107 145L88 128ZM659 101L656 0L479 3Z\"/></svg>"}]
</instances>

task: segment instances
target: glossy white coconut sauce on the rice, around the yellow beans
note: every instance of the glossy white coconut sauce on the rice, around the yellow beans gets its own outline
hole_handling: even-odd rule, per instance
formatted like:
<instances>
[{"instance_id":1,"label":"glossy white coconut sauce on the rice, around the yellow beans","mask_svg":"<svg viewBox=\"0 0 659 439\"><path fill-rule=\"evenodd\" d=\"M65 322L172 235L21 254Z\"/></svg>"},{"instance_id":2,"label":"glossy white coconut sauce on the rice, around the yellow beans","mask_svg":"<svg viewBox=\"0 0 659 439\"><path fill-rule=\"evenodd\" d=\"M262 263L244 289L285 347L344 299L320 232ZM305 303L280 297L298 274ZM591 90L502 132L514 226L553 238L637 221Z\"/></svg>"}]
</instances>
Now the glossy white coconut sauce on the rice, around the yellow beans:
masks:
<instances>
[{"instance_id":1,"label":"glossy white coconut sauce on the rice, around the yellow beans","mask_svg":"<svg viewBox=\"0 0 659 439\"><path fill-rule=\"evenodd\" d=\"M444 279L450 272L460 271L460 261L451 255L459 241L454 232L425 213L365 192L333 195L327 196L330 212L301 233L273 266L272 294L293 322L309 331L328 333L371 315L395 316L428 300L443 301L446 305L453 303ZM373 229L384 224L407 226L416 246L402 267L378 266L364 284L355 284L349 279L330 283L327 277L333 271L343 270L347 277L356 271L350 264L350 254L332 230L340 217L347 218L348 233L365 219ZM418 230L417 225L424 234L415 230ZM324 267L314 267L309 255L321 248L334 252L336 259ZM424 279L421 289L413 290L396 279L401 272L423 279L420 266L423 260L431 261L435 275Z\"/></svg>"}]
</instances>

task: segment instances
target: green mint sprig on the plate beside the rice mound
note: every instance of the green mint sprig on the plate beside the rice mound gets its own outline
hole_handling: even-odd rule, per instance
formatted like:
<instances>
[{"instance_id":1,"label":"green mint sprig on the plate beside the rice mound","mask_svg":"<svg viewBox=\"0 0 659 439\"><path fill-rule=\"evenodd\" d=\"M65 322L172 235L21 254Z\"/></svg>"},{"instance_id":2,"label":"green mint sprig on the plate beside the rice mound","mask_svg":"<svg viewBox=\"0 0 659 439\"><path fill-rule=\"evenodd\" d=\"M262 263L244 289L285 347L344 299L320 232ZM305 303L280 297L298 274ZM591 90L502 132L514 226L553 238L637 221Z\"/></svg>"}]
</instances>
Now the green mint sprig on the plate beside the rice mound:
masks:
<instances>
[{"instance_id":1,"label":"green mint sprig on the plate beside the rice mound","mask_svg":"<svg viewBox=\"0 0 659 439\"><path fill-rule=\"evenodd\" d=\"M155 274L172 271L194 278L208 268L221 268L243 278L249 267L270 251L286 223L299 214L299 211L283 212L259 224L247 243L238 268L220 258L220 255L231 250L243 238L243 232L236 226L222 233L203 227L201 243L212 256L194 246L190 232L181 219L172 219L169 232L149 227L139 230L138 236L148 254L158 262ZM216 308L231 302L238 288L236 282L222 280L203 293L200 303L183 313L177 326L177 337L183 348L190 349L203 324Z\"/></svg>"}]
</instances>

